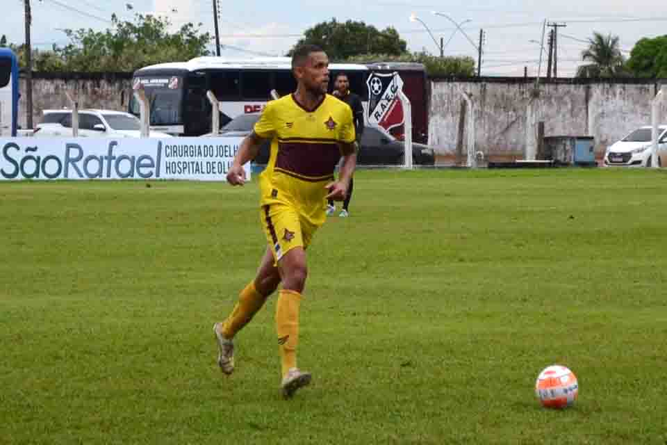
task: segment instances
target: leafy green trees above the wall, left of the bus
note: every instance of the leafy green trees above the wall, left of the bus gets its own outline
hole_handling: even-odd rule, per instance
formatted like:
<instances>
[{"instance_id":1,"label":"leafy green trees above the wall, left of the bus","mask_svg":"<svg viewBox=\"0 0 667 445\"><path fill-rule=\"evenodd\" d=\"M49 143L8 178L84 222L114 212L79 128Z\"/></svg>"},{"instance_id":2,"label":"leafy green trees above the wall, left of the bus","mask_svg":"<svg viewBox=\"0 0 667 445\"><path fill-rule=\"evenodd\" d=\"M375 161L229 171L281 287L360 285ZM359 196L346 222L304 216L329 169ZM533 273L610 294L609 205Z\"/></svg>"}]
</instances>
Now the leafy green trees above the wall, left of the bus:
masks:
<instances>
[{"instance_id":1,"label":"leafy green trees above the wall, left of the bus","mask_svg":"<svg viewBox=\"0 0 667 445\"><path fill-rule=\"evenodd\" d=\"M172 33L167 19L136 15L133 22L111 17L112 27L105 31L66 29L69 44L53 45L50 51L33 49L34 71L65 72L133 72L154 63L188 60L206 56L209 33L188 23ZM9 45L26 64L24 45Z\"/></svg>"}]
</instances>

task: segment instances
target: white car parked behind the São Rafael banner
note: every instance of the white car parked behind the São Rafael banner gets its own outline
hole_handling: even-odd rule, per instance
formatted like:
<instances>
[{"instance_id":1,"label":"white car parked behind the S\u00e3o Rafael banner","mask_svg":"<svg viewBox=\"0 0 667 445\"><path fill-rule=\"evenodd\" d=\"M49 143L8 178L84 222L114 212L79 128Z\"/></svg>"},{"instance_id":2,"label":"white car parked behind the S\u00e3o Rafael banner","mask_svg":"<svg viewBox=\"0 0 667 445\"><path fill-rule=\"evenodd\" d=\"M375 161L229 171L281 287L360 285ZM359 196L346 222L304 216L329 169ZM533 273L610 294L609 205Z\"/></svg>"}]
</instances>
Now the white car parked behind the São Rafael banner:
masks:
<instances>
[{"instance_id":1,"label":"white car parked behind the S\u00e3o Rafael banner","mask_svg":"<svg viewBox=\"0 0 667 445\"><path fill-rule=\"evenodd\" d=\"M35 137L72 137L72 110L44 110L42 122L35 127ZM130 113L110 110L79 111L80 138L138 138L140 120ZM167 133L150 131L151 138L171 138Z\"/></svg>"}]
</instances>

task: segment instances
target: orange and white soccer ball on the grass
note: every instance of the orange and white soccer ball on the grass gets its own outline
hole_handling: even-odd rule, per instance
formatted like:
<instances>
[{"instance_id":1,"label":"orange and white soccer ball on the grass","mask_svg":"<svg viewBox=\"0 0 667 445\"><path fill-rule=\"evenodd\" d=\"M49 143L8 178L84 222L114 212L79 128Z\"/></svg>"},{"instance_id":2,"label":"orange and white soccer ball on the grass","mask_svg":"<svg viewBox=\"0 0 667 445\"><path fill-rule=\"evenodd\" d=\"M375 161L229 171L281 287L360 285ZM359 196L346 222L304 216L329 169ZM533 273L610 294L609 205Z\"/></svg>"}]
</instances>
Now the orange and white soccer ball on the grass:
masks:
<instances>
[{"instance_id":1,"label":"orange and white soccer ball on the grass","mask_svg":"<svg viewBox=\"0 0 667 445\"><path fill-rule=\"evenodd\" d=\"M535 395L545 408L572 406L579 395L577 376L565 366L547 366L537 376Z\"/></svg>"}]
</instances>

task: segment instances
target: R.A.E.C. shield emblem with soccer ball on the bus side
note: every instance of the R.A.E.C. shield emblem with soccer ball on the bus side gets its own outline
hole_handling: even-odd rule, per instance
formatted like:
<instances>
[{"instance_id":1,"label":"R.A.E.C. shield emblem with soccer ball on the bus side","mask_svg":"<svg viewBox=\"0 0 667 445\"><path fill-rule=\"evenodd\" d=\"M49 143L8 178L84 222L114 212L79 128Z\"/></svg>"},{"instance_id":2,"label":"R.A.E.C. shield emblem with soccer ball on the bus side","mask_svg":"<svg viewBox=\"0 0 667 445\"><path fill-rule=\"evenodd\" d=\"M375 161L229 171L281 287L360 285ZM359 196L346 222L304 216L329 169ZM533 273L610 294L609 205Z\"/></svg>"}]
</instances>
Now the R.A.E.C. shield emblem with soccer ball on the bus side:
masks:
<instances>
[{"instance_id":1,"label":"R.A.E.C. shield emblem with soccer ball on the bus side","mask_svg":"<svg viewBox=\"0 0 667 445\"><path fill-rule=\"evenodd\" d=\"M366 81L368 86L368 123L386 130L403 124L403 106L398 93L403 90L403 79L392 74L372 73Z\"/></svg>"}]
</instances>

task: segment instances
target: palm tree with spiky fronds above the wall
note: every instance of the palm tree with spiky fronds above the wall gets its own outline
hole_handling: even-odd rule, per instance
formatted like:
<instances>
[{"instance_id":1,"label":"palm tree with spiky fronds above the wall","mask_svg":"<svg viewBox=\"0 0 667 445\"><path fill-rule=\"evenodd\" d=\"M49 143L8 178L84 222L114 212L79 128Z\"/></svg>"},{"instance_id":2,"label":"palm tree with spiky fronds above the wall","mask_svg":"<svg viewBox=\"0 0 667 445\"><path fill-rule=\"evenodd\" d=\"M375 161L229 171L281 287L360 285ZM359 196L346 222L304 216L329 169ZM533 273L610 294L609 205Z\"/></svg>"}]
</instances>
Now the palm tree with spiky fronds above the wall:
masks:
<instances>
[{"instance_id":1,"label":"palm tree with spiky fronds above the wall","mask_svg":"<svg viewBox=\"0 0 667 445\"><path fill-rule=\"evenodd\" d=\"M618 35L593 33L582 60L590 62L577 67L577 77L618 77L623 75L625 58L620 52Z\"/></svg>"}]
</instances>

